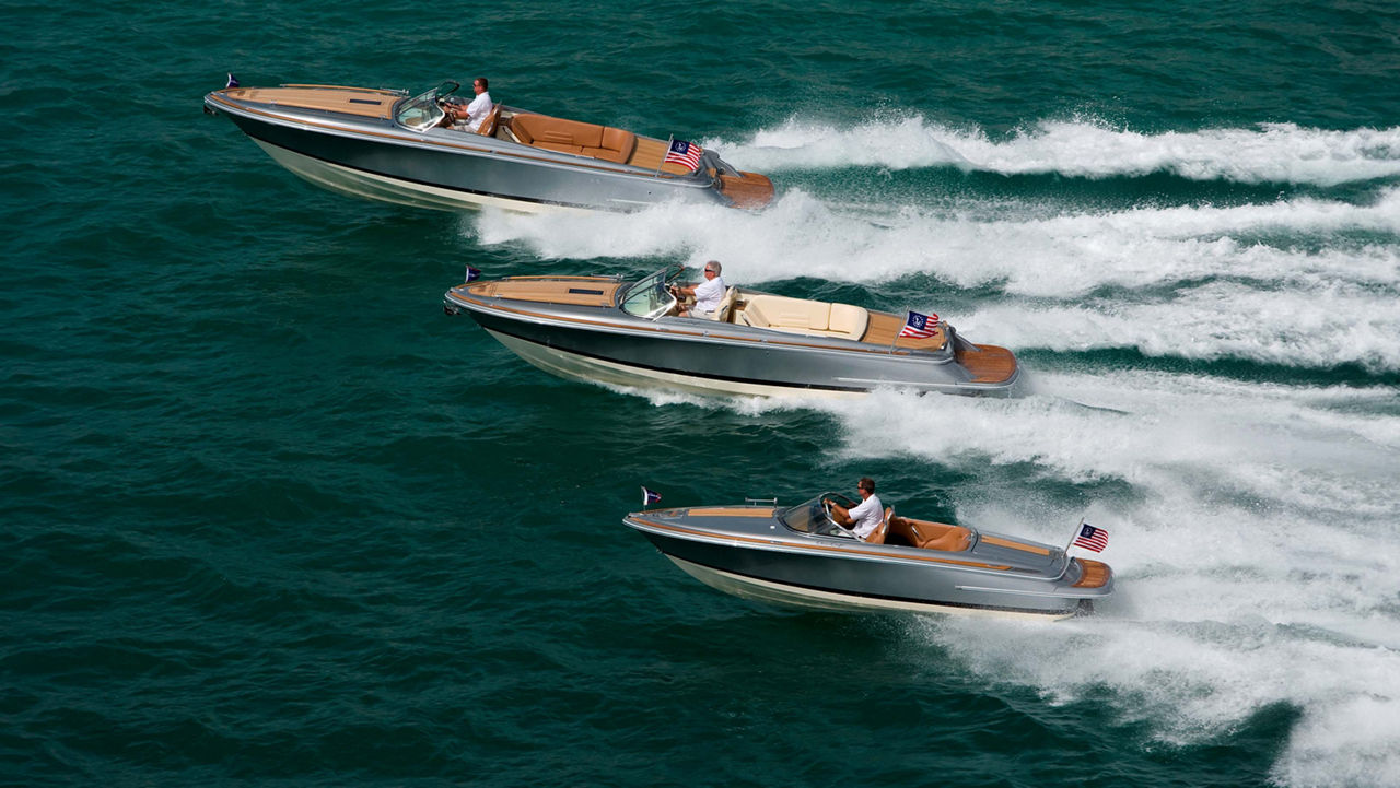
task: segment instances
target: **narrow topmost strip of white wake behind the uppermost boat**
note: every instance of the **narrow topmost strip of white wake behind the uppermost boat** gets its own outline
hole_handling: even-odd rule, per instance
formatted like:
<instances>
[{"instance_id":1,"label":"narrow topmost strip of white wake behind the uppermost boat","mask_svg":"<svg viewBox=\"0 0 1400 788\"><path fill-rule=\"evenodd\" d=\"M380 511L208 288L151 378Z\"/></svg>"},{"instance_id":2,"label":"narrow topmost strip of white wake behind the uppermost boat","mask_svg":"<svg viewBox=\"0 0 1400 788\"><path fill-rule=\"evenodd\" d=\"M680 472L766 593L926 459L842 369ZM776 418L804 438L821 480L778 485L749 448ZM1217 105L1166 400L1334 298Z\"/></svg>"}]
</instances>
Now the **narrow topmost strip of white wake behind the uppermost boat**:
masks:
<instances>
[{"instance_id":1,"label":"narrow topmost strip of white wake behind the uppermost boat","mask_svg":"<svg viewBox=\"0 0 1400 788\"><path fill-rule=\"evenodd\" d=\"M879 144L871 144L879 140ZM1002 175L1074 178L1168 172L1191 181L1336 186L1400 175L1400 127L1326 130L1294 123L1144 134L1095 119L1042 120L1004 140L923 115L841 129L790 119L743 140L703 143L743 169L955 167Z\"/></svg>"}]
</instances>

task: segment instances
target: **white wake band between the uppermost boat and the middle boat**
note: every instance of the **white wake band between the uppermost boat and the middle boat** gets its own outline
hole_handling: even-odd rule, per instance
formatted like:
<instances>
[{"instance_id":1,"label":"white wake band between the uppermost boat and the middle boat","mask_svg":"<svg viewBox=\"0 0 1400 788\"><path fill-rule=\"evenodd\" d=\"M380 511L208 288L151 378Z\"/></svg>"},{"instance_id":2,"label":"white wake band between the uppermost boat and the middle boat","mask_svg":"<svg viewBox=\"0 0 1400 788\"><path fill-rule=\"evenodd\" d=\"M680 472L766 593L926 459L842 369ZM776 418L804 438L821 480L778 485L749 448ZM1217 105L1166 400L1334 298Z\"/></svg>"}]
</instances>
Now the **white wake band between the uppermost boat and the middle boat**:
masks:
<instances>
[{"instance_id":1,"label":"white wake band between the uppermost boat and the middle boat","mask_svg":"<svg viewBox=\"0 0 1400 788\"><path fill-rule=\"evenodd\" d=\"M888 210L883 225L795 192L760 214L664 206L475 223L469 231L487 244L634 260L623 263L631 273L720 259L735 284L874 287L868 305L934 311L1014 350L1400 371L1394 188L1369 204L1295 197L1050 216L1039 204L906 206Z\"/></svg>"}]
</instances>

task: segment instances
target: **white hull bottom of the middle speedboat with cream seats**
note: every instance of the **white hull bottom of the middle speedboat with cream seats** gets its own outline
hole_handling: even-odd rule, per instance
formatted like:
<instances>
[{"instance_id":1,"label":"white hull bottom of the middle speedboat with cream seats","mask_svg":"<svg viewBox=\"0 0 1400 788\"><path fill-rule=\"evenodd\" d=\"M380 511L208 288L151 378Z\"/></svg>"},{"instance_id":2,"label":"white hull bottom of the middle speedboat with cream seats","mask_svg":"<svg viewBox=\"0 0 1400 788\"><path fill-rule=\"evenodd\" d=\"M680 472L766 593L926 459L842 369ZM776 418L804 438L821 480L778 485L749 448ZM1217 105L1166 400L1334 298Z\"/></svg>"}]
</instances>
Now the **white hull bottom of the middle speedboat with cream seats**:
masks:
<instances>
[{"instance_id":1,"label":"white hull bottom of the middle speedboat with cream seats","mask_svg":"<svg viewBox=\"0 0 1400 788\"><path fill-rule=\"evenodd\" d=\"M626 364L617 364L616 361L603 361L601 358L589 358L587 356L578 356L575 353L568 353L559 350L556 347L545 347L543 344L536 344L533 342L525 342L522 339L515 339L508 335L497 333L487 329L487 333L494 336L497 342L504 344L525 361L529 361L535 367L560 378L568 378L573 381L584 381L589 384L605 384L615 386L629 386L634 389L648 389L648 391L683 391L697 395L721 395L721 396L801 396L801 397L840 397L840 399L854 399L865 396L865 392L833 392L826 389L799 389L794 386L770 386L764 384L745 384L739 381L720 381L714 378L700 378L696 375L680 375L676 372L661 372L657 370L643 370L638 367L629 367Z\"/></svg>"}]
</instances>

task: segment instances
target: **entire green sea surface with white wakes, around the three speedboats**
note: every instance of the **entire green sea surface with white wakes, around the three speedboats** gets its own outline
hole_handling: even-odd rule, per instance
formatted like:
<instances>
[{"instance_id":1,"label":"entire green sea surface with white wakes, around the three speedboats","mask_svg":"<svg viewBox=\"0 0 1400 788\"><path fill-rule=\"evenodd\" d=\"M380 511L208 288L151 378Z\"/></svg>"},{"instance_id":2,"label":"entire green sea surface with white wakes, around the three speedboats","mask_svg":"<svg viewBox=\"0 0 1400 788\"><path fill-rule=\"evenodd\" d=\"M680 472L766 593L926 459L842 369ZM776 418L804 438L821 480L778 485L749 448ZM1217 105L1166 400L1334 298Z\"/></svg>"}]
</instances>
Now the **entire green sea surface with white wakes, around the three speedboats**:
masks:
<instances>
[{"instance_id":1,"label":"entire green sea surface with white wakes, around the three speedboats","mask_svg":"<svg viewBox=\"0 0 1400 788\"><path fill-rule=\"evenodd\" d=\"M1400 785L1400 7L7 3L0 784ZM321 190L202 97L717 148L762 213ZM725 263L1014 400L552 378L441 294ZM769 607L620 523L854 493L1063 543L1056 624Z\"/></svg>"}]
</instances>

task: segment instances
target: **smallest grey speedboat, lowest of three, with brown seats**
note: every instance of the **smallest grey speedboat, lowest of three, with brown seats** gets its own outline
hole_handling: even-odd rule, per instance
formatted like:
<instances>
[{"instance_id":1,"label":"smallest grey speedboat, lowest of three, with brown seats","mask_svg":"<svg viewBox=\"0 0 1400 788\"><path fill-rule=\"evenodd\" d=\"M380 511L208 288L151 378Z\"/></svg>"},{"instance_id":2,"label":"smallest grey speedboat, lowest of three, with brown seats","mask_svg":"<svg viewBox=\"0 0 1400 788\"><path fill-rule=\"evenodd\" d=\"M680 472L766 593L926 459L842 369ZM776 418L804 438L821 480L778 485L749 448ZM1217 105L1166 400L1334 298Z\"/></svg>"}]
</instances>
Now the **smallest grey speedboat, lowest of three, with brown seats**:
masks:
<instances>
[{"instance_id":1,"label":"smallest grey speedboat, lowest of three, with brown seats","mask_svg":"<svg viewBox=\"0 0 1400 788\"><path fill-rule=\"evenodd\" d=\"M899 516L868 540L837 525L823 493L776 501L652 509L623 523L696 579L727 593L825 610L914 610L1064 619L1113 593L1113 570L1067 549Z\"/></svg>"}]
</instances>

